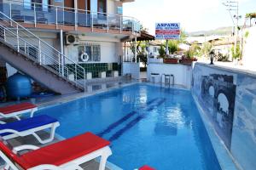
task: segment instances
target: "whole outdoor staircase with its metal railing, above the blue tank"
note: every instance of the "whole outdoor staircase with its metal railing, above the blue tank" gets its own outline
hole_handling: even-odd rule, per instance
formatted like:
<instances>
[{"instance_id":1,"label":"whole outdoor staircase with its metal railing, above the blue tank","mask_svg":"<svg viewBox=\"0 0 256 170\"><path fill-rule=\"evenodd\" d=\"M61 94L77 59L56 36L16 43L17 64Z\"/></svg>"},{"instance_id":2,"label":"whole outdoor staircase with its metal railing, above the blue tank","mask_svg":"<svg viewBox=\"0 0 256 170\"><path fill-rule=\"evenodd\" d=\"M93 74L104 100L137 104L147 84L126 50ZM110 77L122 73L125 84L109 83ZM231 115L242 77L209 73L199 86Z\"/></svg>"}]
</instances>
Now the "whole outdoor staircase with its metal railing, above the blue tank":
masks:
<instances>
[{"instance_id":1,"label":"whole outdoor staircase with its metal railing, above the blue tank","mask_svg":"<svg viewBox=\"0 0 256 170\"><path fill-rule=\"evenodd\" d=\"M0 12L0 57L59 94L85 89L84 68Z\"/></svg>"}]
</instances>

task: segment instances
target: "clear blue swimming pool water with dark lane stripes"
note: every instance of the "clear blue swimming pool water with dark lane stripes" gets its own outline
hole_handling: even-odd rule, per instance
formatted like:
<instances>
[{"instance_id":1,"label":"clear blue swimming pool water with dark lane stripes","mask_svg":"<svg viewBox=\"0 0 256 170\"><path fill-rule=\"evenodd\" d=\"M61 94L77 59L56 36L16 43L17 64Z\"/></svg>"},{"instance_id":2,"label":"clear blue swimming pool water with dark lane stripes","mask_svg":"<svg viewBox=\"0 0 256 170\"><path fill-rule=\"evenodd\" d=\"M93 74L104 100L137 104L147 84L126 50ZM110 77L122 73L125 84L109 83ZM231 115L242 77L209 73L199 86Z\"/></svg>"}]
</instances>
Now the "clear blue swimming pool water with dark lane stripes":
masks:
<instances>
[{"instance_id":1,"label":"clear blue swimming pool water with dark lane stripes","mask_svg":"<svg viewBox=\"0 0 256 170\"><path fill-rule=\"evenodd\" d=\"M136 84L45 108L71 138L90 131L111 141L108 161L124 169L220 169L189 91Z\"/></svg>"}]
</instances>

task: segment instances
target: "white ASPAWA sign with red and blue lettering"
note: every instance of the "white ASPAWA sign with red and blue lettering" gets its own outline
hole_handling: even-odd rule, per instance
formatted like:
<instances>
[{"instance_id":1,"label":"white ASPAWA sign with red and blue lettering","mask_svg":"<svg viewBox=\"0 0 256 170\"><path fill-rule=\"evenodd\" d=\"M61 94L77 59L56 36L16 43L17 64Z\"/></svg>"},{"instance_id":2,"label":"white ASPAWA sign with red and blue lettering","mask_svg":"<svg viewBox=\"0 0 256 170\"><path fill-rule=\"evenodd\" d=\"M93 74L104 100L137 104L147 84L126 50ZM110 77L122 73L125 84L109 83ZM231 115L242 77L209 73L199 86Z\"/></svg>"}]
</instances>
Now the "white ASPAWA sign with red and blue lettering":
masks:
<instances>
[{"instance_id":1,"label":"white ASPAWA sign with red and blue lettering","mask_svg":"<svg viewBox=\"0 0 256 170\"><path fill-rule=\"evenodd\" d=\"M155 39L169 40L180 38L179 23L156 23L155 24Z\"/></svg>"}]
</instances>

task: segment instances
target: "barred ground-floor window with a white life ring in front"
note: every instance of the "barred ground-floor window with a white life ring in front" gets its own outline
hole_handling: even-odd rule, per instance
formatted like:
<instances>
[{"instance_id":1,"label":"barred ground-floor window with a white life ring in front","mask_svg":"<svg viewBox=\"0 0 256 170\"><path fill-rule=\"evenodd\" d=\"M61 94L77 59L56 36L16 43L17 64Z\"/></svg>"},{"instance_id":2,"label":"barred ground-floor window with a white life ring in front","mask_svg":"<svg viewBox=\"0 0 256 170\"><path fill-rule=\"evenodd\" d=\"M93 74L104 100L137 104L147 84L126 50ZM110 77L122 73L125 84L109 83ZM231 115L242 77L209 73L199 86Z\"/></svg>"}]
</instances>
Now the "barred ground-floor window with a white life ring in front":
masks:
<instances>
[{"instance_id":1,"label":"barred ground-floor window with a white life ring in front","mask_svg":"<svg viewBox=\"0 0 256 170\"><path fill-rule=\"evenodd\" d=\"M79 62L87 61L101 61L101 45L99 43L84 42L79 45Z\"/></svg>"}]
</instances>

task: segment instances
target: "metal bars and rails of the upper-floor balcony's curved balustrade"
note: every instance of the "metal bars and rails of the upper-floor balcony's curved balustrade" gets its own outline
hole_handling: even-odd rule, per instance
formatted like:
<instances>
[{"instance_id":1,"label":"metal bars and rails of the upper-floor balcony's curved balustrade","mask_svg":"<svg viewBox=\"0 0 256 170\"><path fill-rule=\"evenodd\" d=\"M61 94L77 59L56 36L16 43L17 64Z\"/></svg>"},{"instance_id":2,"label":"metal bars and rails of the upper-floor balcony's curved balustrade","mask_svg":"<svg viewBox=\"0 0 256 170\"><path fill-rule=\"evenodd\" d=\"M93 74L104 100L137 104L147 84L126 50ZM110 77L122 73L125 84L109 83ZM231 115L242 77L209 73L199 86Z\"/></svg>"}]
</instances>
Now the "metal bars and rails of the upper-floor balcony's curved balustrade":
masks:
<instances>
[{"instance_id":1,"label":"metal bars and rails of the upper-floor balcony's curved balustrade","mask_svg":"<svg viewBox=\"0 0 256 170\"><path fill-rule=\"evenodd\" d=\"M15 6L18 6L20 11L30 11L31 15L28 15L29 17L33 17L32 19L26 19L29 22L34 23L35 27L38 23L41 23L42 21L37 20L37 12L44 12L45 14L54 14L51 16L52 18L49 23L55 24L57 26L62 25L68 25L68 26L75 26L75 29L77 29L77 26L89 26L91 27L91 31L94 31L94 28L97 28L98 26L94 25L104 25L103 27L106 27L106 30L108 31L111 29L119 29L120 33L122 31L131 31L133 34L139 34L140 33L140 23L139 21L130 16L125 16L121 14L108 14L108 13L102 13L102 12L93 12L90 10L80 9L80 8L68 8L68 7L61 7L56 5L49 5L49 4L43 4L43 3L27 3L30 5L30 8L26 8L26 2L20 2L16 0L7 0L6 2L2 3L4 5L9 5L9 9L6 10L9 17L12 18L12 9ZM24 5L25 4L25 5ZM38 7L40 6L40 7ZM46 7L47 11L44 11L44 8ZM38 10L40 8L41 10ZM3 8L4 9L4 8ZM50 12L49 12L50 11ZM33 14L32 14L33 12ZM72 14L73 20L69 20L65 17L65 15ZM82 16L82 15L83 16ZM79 20L79 17L82 17L85 20ZM21 16L20 16L21 17ZM25 16L24 16L25 17ZM62 18L61 18L62 17ZM99 17L99 18L97 18ZM46 18L45 18L46 19ZM49 18L47 18L49 19ZM89 20L88 20L89 19ZM102 24L103 19L103 24ZM25 19L24 19L25 20ZM54 21L53 21L54 20ZM113 21L115 20L115 21ZM83 23L85 22L85 25ZM100 23L95 23L96 21L99 21ZM54 23L55 22L55 23ZM83 23L83 24L81 24ZM115 27L116 26L116 27Z\"/></svg>"}]
</instances>

